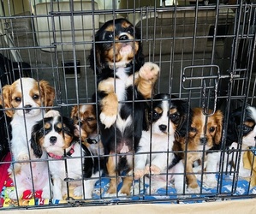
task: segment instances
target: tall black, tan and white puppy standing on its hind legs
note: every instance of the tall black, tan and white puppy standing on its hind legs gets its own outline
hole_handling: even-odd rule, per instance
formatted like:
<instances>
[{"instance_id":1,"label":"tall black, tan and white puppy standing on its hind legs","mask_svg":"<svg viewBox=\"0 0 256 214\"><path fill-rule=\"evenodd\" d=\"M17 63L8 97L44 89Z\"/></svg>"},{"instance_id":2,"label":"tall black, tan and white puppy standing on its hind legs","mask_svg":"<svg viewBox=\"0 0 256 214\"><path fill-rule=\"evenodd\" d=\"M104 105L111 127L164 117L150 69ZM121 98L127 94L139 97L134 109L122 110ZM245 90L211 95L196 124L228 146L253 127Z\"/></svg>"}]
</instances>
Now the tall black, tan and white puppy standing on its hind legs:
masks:
<instances>
[{"instance_id":1,"label":"tall black, tan and white puppy standing on its hind legs","mask_svg":"<svg viewBox=\"0 0 256 214\"><path fill-rule=\"evenodd\" d=\"M116 193L116 173L123 171L127 176L120 193L129 195L133 153L146 128L145 99L152 97L159 68L152 62L144 64L140 31L125 19L107 21L94 39L90 61L98 81L99 129L104 153L109 156L107 193Z\"/></svg>"}]
</instances>

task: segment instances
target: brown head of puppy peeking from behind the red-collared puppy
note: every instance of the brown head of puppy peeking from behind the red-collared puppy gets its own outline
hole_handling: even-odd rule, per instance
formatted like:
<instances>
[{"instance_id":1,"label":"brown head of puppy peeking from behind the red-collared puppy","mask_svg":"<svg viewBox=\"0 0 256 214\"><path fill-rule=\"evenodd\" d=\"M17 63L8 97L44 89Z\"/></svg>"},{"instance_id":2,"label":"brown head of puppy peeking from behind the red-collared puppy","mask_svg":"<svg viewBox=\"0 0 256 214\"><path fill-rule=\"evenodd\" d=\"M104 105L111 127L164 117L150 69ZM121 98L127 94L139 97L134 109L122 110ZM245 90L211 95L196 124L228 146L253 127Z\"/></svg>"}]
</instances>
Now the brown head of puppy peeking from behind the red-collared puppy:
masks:
<instances>
[{"instance_id":1,"label":"brown head of puppy peeking from behind the red-collared puppy","mask_svg":"<svg viewBox=\"0 0 256 214\"><path fill-rule=\"evenodd\" d=\"M97 120L92 104L75 105L71 110L71 118L74 120L75 135L85 140L88 135L93 134L97 129Z\"/></svg>"}]
</instances>

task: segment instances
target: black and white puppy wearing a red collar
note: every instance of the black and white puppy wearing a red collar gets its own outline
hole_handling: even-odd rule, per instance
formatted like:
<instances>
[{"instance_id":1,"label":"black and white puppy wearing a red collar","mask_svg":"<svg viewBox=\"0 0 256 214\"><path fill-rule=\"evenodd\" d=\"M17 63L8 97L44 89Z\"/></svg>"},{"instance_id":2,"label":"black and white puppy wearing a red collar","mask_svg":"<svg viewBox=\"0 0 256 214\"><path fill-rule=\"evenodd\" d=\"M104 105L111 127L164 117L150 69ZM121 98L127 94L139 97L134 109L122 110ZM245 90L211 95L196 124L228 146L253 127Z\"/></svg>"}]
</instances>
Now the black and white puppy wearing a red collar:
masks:
<instances>
[{"instance_id":1,"label":"black and white puppy wearing a red collar","mask_svg":"<svg viewBox=\"0 0 256 214\"><path fill-rule=\"evenodd\" d=\"M31 147L38 158L46 154L50 160L54 199L63 199L67 181L75 186L74 196L92 198L94 184L100 175L98 158L93 158L92 152L74 136L73 120L53 116L37 122L33 126Z\"/></svg>"}]
</instances>

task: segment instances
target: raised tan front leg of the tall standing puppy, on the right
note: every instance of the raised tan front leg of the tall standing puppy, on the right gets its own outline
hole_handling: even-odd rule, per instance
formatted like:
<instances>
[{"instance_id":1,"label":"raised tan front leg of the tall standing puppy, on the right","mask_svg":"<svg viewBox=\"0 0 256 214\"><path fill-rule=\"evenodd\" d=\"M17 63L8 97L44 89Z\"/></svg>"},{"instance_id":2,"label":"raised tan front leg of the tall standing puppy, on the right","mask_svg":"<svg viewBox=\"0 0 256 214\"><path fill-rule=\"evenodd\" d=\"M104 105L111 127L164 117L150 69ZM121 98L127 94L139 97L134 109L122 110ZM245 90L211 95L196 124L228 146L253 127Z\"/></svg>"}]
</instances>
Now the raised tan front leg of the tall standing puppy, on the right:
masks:
<instances>
[{"instance_id":1,"label":"raised tan front leg of the tall standing puppy, on the right","mask_svg":"<svg viewBox=\"0 0 256 214\"><path fill-rule=\"evenodd\" d=\"M158 80L160 68L157 64L146 62L139 71L139 77L135 79L135 85L144 98L152 97L153 86Z\"/></svg>"}]
</instances>

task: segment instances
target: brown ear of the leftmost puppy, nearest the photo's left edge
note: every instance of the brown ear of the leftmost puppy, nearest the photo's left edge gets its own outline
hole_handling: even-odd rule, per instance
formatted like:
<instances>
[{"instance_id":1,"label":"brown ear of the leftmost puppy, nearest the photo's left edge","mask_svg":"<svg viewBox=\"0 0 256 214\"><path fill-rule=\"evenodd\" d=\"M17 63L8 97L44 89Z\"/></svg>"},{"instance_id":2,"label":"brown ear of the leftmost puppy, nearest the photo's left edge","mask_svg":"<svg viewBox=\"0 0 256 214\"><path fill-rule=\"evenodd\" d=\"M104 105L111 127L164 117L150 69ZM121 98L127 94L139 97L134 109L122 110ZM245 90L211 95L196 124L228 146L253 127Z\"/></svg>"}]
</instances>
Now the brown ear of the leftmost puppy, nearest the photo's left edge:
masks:
<instances>
[{"instance_id":1,"label":"brown ear of the leftmost puppy, nearest the photo's left edge","mask_svg":"<svg viewBox=\"0 0 256 214\"><path fill-rule=\"evenodd\" d=\"M0 98L0 104L3 105L5 109L12 108L11 105L11 94L12 94L12 86L6 85L2 88L2 96ZM3 98L3 100L2 100ZM9 117L13 117L15 114L14 110L5 110L5 114Z\"/></svg>"}]
</instances>

